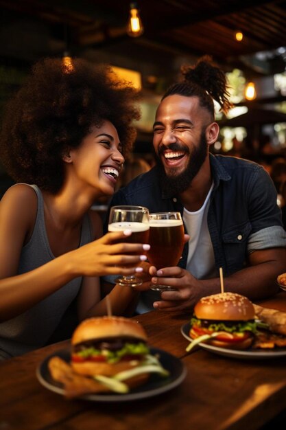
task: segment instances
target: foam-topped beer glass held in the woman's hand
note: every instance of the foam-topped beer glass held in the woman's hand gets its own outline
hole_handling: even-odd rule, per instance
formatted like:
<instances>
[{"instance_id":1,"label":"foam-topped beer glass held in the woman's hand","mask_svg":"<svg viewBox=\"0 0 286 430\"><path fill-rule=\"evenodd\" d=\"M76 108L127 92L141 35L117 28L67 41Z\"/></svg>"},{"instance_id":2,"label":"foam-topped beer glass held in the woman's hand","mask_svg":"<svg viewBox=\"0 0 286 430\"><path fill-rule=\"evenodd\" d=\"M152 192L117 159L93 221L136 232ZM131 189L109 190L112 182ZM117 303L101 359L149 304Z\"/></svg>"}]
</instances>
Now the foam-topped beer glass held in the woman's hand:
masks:
<instances>
[{"instance_id":1,"label":"foam-topped beer glass held in the woman's hand","mask_svg":"<svg viewBox=\"0 0 286 430\"><path fill-rule=\"evenodd\" d=\"M132 234L121 238L121 242L148 243L149 238L149 211L143 206L113 206L110 209L108 231L124 231L130 229ZM144 251L140 251L142 254ZM142 280L134 275L120 276L116 280L121 286L141 285Z\"/></svg>"}]
</instances>

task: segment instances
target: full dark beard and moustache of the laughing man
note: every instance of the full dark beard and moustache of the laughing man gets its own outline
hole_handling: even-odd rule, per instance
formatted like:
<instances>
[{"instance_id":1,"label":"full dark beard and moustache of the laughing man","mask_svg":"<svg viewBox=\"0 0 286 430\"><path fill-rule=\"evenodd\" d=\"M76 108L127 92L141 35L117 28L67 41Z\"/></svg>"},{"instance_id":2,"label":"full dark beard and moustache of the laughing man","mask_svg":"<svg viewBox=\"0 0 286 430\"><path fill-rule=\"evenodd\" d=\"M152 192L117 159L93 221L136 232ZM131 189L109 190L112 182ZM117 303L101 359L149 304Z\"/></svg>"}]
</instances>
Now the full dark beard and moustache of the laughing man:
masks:
<instances>
[{"instance_id":1,"label":"full dark beard and moustache of the laughing man","mask_svg":"<svg viewBox=\"0 0 286 430\"><path fill-rule=\"evenodd\" d=\"M206 143L205 133L202 131L200 144L198 147L193 146L192 152L190 152L189 148L182 148L182 146L178 144L170 144L168 146L168 149L174 151L184 150L187 154L191 153L187 167L180 174L176 174L175 168L174 174L167 174L165 172L164 165L160 159L160 153L165 149L166 148L162 146L158 151L158 155L156 154L160 183L163 189L163 194L167 194L167 196L175 196L187 190L191 185L193 178L198 174L204 160L206 159L206 155L208 154L208 144ZM169 170L171 170L171 168L169 168Z\"/></svg>"}]
</instances>

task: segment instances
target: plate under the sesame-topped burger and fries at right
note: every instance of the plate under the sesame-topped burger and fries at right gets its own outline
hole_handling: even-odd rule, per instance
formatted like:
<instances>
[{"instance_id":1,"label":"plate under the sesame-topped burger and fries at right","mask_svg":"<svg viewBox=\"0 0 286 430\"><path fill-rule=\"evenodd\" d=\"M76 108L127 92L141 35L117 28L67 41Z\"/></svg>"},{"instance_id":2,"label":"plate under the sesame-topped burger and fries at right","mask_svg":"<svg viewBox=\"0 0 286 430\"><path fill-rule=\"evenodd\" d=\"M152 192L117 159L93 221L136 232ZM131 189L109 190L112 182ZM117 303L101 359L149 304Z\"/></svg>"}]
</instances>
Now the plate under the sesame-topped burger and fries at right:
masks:
<instances>
[{"instance_id":1,"label":"plate under the sesame-topped burger and fries at right","mask_svg":"<svg viewBox=\"0 0 286 430\"><path fill-rule=\"evenodd\" d=\"M184 324L181 327L181 333L188 341L191 342L193 339L189 337L190 326L190 323ZM208 345L207 343L199 343L199 346L204 350L214 352L215 354L223 355L224 357L230 357L232 359L264 360L286 357L286 348L277 348L272 350L250 348L249 350L239 351L228 350L227 348L220 348L218 346Z\"/></svg>"}]
</instances>

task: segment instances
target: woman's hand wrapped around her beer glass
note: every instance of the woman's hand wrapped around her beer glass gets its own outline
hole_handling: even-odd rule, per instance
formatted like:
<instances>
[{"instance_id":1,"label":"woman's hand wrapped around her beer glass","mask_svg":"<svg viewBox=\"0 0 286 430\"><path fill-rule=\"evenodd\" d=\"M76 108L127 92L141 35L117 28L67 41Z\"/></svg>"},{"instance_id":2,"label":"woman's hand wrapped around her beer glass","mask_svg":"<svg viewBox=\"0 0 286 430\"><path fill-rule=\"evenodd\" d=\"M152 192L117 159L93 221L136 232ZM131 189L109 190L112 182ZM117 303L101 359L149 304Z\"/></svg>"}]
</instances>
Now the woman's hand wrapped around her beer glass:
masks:
<instances>
[{"instance_id":1,"label":"woman's hand wrapped around her beer glass","mask_svg":"<svg viewBox=\"0 0 286 430\"><path fill-rule=\"evenodd\" d=\"M78 276L132 275L143 271L140 263L146 260L150 245L128 243L131 230L109 232L93 242L69 253L73 271Z\"/></svg>"}]
</instances>

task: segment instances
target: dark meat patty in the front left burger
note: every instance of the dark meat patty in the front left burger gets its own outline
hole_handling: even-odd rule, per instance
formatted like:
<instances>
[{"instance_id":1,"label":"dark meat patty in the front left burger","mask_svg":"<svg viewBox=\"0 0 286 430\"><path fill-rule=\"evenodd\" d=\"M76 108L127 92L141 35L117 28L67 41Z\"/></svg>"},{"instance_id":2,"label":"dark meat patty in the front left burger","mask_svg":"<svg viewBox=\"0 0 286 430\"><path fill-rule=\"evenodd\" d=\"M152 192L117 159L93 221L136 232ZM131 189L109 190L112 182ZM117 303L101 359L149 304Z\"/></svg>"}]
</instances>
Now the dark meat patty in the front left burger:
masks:
<instances>
[{"instance_id":1,"label":"dark meat patty in the front left burger","mask_svg":"<svg viewBox=\"0 0 286 430\"><path fill-rule=\"evenodd\" d=\"M95 348L96 350L108 350L108 351L118 351L121 350L126 343L145 343L143 339L136 339L134 337L106 337L104 339L91 339L82 343L78 343L73 346L73 352L81 352L88 348Z\"/></svg>"}]
</instances>

